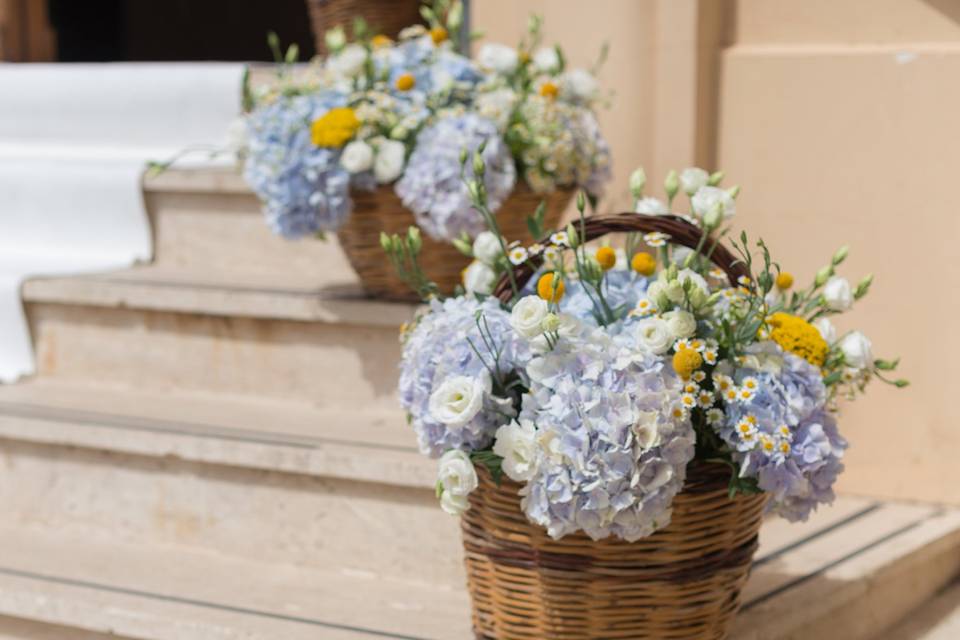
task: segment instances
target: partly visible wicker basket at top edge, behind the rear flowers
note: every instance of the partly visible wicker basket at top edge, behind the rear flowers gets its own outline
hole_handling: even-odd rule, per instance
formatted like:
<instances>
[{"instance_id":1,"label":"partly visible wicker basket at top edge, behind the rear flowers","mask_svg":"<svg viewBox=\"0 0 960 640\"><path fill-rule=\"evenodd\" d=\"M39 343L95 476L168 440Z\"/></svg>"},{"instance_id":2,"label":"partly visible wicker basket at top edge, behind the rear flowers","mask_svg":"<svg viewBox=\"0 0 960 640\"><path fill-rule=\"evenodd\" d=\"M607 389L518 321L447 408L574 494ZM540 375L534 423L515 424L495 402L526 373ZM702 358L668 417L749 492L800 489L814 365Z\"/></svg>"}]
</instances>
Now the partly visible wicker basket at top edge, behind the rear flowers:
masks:
<instances>
[{"instance_id":1,"label":"partly visible wicker basket at top edge, behind the rear flowers","mask_svg":"<svg viewBox=\"0 0 960 640\"><path fill-rule=\"evenodd\" d=\"M421 0L307 0L317 55L327 46L323 35L327 29L341 25L349 29L354 18L362 17L376 33L391 38L401 29L420 22Z\"/></svg>"}]
</instances>

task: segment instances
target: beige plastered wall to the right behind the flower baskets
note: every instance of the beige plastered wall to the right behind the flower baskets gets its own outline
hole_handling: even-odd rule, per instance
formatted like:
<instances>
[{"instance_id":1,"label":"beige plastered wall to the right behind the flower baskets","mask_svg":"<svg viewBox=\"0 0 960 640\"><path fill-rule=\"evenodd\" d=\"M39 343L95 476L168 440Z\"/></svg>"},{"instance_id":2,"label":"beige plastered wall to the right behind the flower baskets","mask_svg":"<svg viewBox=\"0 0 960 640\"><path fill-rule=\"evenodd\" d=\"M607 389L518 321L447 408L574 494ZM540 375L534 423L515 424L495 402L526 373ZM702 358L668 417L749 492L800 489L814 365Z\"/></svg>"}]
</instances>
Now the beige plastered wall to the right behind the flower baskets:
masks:
<instances>
[{"instance_id":1,"label":"beige plastered wall to the right behind the flower baskets","mask_svg":"<svg viewBox=\"0 0 960 640\"><path fill-rule=\"evenodd\" d=\"M612 45L602 114L617 182L701 162L743 186L738 224L785 269L845 242L874 290L844 326L903 356L897 391L844 411L841 489L960 503L960 0L478 0L474 26L513 42L528 10L587 60Z\"/></svg>"}]
</instances>

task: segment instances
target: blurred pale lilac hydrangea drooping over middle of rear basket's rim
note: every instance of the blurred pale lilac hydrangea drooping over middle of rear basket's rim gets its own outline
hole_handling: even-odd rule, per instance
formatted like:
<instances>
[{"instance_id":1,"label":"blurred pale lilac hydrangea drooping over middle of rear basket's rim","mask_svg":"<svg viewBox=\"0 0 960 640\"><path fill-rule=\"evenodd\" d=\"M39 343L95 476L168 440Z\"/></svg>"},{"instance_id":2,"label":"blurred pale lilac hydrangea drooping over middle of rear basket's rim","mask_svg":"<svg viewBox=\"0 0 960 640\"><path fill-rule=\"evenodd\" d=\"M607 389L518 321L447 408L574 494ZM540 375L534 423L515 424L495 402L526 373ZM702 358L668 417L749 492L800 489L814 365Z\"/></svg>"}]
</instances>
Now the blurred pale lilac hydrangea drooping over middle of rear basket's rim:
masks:
<instances>
[{"instance_id":1,"label":"blurred pale lilac hydrangea drooping over middle of rear basket's rim","mask_svg":"<svg viewBox=\"0 0 960 640\"><path fill-rule=\"evenodd\" d=\"M428 126L417 138L395 189L431 237L451 240L464 232L472 237L484 230L483 217L471 206L460 175L461 152L473 153L483 142L487 201L490 210L496 211L513 191L516 168L493 122L473 113L450 115ZM472 176L472 169L468 168L467 175Z\"/></svg>"}]
</instances>

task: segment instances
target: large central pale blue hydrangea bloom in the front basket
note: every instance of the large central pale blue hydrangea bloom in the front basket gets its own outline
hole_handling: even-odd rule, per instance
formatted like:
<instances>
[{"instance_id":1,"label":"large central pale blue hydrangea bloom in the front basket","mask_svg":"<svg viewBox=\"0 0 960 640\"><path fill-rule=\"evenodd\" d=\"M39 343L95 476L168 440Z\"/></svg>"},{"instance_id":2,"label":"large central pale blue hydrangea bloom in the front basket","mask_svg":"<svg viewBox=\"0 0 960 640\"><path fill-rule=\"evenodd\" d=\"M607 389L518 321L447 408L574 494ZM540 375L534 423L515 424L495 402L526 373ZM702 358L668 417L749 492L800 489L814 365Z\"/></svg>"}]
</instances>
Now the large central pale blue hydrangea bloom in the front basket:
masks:
<instances>
[{"instance_id":1,"label":"large central pale blue hydrangea bloom in the front basket","mask_svg":"<svg viewBox=\"0 0 960 640\"><path fill-rule=\"evenodd\" d=\"M520 419L537 425L540 454L522 507L553 538L637 540L669 523L693 458L689 419L670 413L681 382L626 336L578 333L527 366Z\"/></svg>"}]
</instances>

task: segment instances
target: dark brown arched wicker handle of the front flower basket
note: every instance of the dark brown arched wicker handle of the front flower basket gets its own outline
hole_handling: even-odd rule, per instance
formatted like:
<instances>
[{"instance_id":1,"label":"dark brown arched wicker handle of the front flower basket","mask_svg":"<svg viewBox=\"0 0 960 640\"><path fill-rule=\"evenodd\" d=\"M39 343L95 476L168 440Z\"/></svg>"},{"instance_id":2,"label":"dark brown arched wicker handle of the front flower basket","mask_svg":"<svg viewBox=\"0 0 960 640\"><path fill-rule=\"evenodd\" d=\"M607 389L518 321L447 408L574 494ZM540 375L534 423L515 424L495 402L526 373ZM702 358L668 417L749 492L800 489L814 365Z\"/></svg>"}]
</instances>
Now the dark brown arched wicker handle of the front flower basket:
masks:
<instances>
[{"instance_id":1,"label":"dark brown arched wicker handle of the front flower basket","mask_svg":"<svg viewBox=\"0 0 960 640\"><path fill-rule=\"evenodd\" d=\"M580 224L575 222L573 226L579 233ZM633 212L593 216L584 221L583 227L581 243L596 240L608 233L629 233L634 231L651 233L659 231L668 234L672 244L679 244L689 247L690 249L696 249L700 245L700 240L703 237L703 230L700 227L690 224L683 218L677 216L648 216ZM548 244L549 237L544 238L541 242ZM708 238L704 244L706 246L709 243L710 240ZM740 276L750 275L746 265L744 265L742 261L739 261L736 256L724 245L720 244L719 241L713 249L710 259L715 265L723 269L724 273L727 274L727 278L730 280L730 284L733 286L736 286L737 279L740 278ZM536 270L540 268L542 263L543 259L537 256L530 258L517 267L511 265L511 268L513 268L514 277L517 279L517 282L526 282ZM510 277L506 272L500 276L500 280L497 282L496 287L494 287L493 295L498 297L502 302L509 302L510 298L513 297Z\"/></svg>"}]
</instances>

